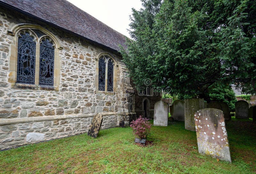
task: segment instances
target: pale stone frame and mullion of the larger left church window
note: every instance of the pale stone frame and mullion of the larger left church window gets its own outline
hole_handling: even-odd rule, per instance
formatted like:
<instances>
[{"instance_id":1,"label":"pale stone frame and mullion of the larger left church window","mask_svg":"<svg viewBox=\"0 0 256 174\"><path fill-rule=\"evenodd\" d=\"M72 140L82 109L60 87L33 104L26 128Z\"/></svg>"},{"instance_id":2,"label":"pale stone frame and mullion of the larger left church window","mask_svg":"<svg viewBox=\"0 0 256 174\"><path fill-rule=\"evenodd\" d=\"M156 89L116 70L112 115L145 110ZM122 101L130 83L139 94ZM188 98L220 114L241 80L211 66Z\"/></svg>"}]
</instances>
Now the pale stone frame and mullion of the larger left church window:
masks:
<instances>
[{"instance_id":1,"label":"pale stone frame and mullion of the larger left church window","mask_svg":"<svg viewBox=\"0 0 256 174\"><path fill-rule=\"evenodd\" d=\"M35 34L33 29L40 30L44 35L38 36ZM28 31L36 40L36 62L35 62L35 84L22 84L17 83L17 62L18 62L18 38L21 31ZM60 46L59 40L48 30L44 29L42 26L33 24L18 24L14 26L11 30L7 31L7 34L13 36L14 44L11 45L11 56L10 56L10 73L8 82L11 83L12 88L25 88L25 89L42 89L42 90L55 90L59 91L60 86L60 68L61 61L59 56L59 51L63 49ZM54 75L53 75L53 86L43 86L39 85L39 66L40 66L40 42L42 39L48 38L54 42Z\"/></svg>"}]
</instances>

